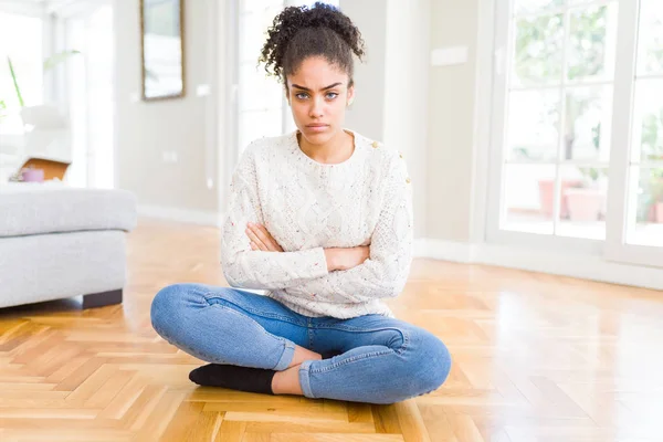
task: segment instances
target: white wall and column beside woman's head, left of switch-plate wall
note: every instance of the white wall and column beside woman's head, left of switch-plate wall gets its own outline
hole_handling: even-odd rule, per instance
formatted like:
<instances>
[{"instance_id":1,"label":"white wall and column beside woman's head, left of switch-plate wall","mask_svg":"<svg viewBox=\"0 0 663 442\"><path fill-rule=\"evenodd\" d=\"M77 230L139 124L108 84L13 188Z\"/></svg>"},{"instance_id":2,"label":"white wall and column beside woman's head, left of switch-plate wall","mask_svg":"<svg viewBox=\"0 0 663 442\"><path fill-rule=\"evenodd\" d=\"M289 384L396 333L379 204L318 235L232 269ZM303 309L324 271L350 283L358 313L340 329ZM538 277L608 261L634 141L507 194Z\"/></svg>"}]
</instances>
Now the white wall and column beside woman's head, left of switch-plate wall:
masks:
<instances>
[{"instance_id":1,"label":"white wall and column beside woman's head, left of switch-plate wall","mask_svg":"<svg viewBox=\"0 0 663 442\"><path fill-rule=\"evenodd\" d=\"M367 45L355 65L357 97L346 126L403 154L414 190L414 236L427 225L430 0L347 0L341 11Z\"/></svg>"}]
</instances>

